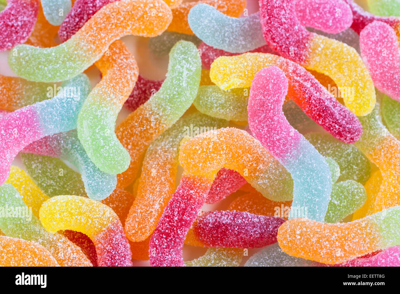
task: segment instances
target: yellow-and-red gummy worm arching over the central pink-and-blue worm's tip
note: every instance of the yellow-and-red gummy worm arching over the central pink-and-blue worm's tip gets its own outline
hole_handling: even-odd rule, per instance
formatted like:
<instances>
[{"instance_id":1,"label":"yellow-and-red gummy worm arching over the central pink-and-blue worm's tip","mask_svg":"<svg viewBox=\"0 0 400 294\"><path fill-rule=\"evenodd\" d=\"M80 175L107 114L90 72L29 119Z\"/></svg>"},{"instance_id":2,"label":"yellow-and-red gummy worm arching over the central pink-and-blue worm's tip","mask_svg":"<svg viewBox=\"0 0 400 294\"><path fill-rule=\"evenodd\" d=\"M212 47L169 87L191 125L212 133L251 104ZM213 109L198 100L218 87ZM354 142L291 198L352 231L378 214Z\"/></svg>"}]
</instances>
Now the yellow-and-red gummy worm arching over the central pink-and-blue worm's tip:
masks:
<instances>
[{"instance_id":1,"label":"yellow-and-red gummy worm arching over the central pink-and-blue worm's tip","mask_svg":"<svg viewBox=\"0 0 400 294\"><path fill-rule=\"evenodd\" d=\"M362 126L357 117L310 72L288 59L268 53L221 56L212 63L210 78L223 90L247 88L256 73L266 66L278 66L285 73L289 80L288 96L327 132L346 143L360 138Z\"/></svg>"}]
</instances>

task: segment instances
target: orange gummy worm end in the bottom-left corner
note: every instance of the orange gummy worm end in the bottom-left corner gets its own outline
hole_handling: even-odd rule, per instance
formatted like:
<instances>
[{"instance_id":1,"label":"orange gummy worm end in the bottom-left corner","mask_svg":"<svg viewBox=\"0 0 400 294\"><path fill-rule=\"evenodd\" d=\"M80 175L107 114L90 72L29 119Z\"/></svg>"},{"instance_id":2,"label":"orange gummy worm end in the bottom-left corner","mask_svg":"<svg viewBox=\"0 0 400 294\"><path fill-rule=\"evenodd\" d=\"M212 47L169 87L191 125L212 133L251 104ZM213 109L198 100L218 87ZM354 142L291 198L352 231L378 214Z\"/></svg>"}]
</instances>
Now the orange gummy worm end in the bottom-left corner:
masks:
<instances>
[{"instance_id":1,"label":"orange gummy worm end in the bottom-left corner","mask_svg":"<svg viewBox=\"0 0 400 294\"><path fill-rule=\"evenodd\" d=\"M0 266L59 266L42 245L0 236Z\"/></svg>"}]
</instances>

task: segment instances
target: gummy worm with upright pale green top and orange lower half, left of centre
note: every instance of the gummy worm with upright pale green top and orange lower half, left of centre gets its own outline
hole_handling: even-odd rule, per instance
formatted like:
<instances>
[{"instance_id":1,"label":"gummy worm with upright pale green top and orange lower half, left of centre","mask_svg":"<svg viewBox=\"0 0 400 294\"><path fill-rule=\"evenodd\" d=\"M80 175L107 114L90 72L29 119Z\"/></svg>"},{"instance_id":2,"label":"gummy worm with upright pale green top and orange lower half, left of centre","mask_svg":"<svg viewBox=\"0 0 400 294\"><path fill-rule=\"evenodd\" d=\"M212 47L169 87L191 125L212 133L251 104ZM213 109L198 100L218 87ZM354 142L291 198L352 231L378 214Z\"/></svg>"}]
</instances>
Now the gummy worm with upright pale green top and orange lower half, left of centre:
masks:
<instances>
[{"instance_id":1,"label":"gummy worm with upright pale green top and orange lower half, left of centre","mask_svg":"<svg viewBox=\"0 0 400 294\"><path fill-rule=\"evenodd\" d=\"M174 124L190 107L200 83L201 61L196 46L179 41L171 49L167 77L154 96L126 117L116 136L130 154L130 166L118 174L118 187L135 180L144 151L157 136ZM114 162L110 161L112 167Z\"/></svg>"}]
</instances>

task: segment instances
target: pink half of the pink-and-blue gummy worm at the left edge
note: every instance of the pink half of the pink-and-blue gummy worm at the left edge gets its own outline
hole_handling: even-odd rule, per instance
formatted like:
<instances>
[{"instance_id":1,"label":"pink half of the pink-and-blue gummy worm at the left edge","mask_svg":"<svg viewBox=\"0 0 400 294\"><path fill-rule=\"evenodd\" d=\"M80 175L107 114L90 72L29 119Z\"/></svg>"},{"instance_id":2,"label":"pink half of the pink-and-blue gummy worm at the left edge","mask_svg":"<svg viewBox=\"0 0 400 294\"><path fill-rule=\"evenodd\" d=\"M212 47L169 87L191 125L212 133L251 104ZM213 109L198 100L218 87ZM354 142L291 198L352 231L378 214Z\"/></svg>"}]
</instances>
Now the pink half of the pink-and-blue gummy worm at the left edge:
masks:
<instances>
[{"instance_id":1,"label":"pink half of the pink-and-blue gummy worm at the left edge","mask_svg":"<svg viewBox=\"0 0 400 294\"><path fill-rule=\"evenodd\" d=\"M43 135L38 113L33 106L20 108L0 118L0 126L0 184L3 184L18 152Z\"/></svg>"}]
</instances>

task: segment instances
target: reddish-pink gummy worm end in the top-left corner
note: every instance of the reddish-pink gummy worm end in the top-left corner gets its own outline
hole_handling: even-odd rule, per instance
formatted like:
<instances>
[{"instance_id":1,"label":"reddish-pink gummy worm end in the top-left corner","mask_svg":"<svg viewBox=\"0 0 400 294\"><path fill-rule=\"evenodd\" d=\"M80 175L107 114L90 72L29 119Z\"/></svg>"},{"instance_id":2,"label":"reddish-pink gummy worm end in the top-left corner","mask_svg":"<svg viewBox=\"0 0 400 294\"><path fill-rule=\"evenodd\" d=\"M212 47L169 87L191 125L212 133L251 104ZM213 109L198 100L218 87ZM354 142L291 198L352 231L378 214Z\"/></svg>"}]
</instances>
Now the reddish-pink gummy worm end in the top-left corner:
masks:
<instances>
[{"instance_id":1,"label":"reddish-pink gummy worm end in the top-left corner","mask_svg":"<svg viewBox=\"0 0 400 294\"><path fill-rule=\"evenodd\" d=\"M24 43L38 18L38 0L7 0L0 12L0 52Z\"/></svg>"}]
</instances>

